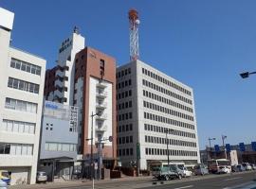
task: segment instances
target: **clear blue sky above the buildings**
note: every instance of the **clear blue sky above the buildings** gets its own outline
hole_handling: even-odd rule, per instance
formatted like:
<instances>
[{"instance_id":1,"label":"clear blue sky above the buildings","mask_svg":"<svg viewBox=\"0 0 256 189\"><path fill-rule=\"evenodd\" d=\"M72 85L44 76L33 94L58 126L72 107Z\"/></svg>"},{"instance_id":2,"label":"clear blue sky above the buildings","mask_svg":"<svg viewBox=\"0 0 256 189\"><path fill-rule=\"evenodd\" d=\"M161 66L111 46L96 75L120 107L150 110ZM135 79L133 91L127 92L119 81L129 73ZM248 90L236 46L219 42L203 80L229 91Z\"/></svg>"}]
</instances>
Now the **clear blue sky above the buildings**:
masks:
<instances>
[{"instance_id":1,"label":"clear blue sky above the buildings","mask_svg":"<svg viewBox=\"0 0 256 189\"><path fill-rule=\"evenodd\" d=\"M200 148L208 137L256 141L256 1L0 0L15 12L12 45L52 67L60 43L79 26L86 45L129 60L127 12L139 11L140 60L193 88Z\"/></svg>"}]
</instances>

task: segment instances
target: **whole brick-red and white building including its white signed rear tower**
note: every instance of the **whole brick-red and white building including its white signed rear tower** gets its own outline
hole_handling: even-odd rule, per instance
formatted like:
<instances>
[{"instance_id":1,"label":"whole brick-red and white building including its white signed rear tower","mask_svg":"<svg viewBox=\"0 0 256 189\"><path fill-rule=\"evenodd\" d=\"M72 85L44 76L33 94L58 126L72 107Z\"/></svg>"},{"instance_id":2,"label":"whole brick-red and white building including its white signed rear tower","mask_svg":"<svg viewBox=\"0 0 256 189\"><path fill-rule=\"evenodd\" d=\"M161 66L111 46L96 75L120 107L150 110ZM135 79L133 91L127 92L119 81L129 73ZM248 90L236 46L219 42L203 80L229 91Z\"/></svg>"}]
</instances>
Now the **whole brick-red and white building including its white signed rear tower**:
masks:
<instances>
[{"instance_id":1,"label":"whole brick-red and white building including its white signed rear tower","mask_svg":"<svg viewBox=\"0 0 256 189\"><path fill-rule=\"evenodd\" d=\"M116 137L115 86L116 60L84 47L84 38L75 27L72 36L61 44L57 66L46 71L45 96L46 100L78 107L77 149L83 160L90 160L93 138L94 158L99 159L98 144L103 140L103 163L114 165L116 140L106 139Z\"/></svg>"}]
</instances>

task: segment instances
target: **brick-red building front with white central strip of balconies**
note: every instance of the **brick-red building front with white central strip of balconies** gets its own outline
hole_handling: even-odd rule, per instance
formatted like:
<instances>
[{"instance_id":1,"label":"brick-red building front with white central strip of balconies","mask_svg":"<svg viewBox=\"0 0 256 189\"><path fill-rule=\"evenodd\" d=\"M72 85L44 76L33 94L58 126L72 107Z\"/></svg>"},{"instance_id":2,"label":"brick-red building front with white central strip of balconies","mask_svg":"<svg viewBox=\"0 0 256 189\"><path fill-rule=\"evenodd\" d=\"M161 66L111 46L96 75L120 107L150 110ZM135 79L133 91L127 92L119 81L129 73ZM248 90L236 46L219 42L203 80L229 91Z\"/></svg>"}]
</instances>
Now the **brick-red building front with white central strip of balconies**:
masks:
<instances>
[{"instance_id":1,"label":"brick-red building front with white central strip of balconies","mask_svg":"<svg viewBox=\"0 0 256 189\"><path fill-rule=\"evenodd\" d=\"M79 112L79 151L85 159L90 157L91 141L93 153L98 156L98 145L102 141L101 155L104 159L116 158L116 60L91 47L84 48L75 60L74 106ZM93 126L93 128L92 128ZM91 135L93 134L93 135ZM113 162L112 162L113 163Z\"/></svg>"}]
</instances>

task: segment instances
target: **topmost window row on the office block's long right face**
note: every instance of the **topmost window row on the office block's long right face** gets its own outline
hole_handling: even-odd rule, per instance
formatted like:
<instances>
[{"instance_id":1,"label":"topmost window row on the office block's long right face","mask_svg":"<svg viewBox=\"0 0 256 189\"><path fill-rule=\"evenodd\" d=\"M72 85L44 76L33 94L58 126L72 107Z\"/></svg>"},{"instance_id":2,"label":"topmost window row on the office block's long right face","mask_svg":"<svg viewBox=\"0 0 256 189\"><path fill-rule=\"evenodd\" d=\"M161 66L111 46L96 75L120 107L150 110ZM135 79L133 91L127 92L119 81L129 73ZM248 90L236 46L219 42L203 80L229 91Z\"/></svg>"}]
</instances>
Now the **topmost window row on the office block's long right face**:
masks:
<instances>
[{"instance_id":1,"label":"topmost window row on the office block's long right face","mask_svg":"<svg viewBox=\"0 0 256 189\"><path fill-rule=\"evenodd\" d=\"M190 91L188 91L187 89L184 89L183 87L180 87L179 85L175 84L174 82L170 81L170 80L167 80L165 79L164 77L160 77L156 74L154 74L153 72L145 69L145 68L142 68L142 74L144 75L147 75L149 77L153 77L155 78L156 80L170 86L170 87L173 87L174 89L180 91L180 92L183 92L184 94L189 94L189 95L192 95L192 93Z\"/></svg>"}]
</instances>

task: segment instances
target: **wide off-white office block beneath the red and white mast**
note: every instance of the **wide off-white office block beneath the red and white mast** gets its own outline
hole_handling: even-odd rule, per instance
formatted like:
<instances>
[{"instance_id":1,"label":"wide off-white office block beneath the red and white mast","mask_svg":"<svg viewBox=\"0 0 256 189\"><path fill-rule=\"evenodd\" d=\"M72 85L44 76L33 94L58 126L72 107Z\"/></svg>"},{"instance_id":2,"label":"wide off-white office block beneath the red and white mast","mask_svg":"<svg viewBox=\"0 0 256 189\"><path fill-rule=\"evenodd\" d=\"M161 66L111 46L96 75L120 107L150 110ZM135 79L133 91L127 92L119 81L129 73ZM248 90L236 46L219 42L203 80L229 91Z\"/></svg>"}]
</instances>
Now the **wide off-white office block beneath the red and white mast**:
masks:
<instances>
[{"instance_id":1,"label":"wide off-white office block beneath the red and white mast","mask_svg":"<svg viewBox=\"0 0 256 189\"><path fill-rule=\"evenodd\" d=\"M135 60L118 67L117 89L122 165L167 164L167 144L170 163L199 163L192 88Z\"/></svg>"}]
</instances>

